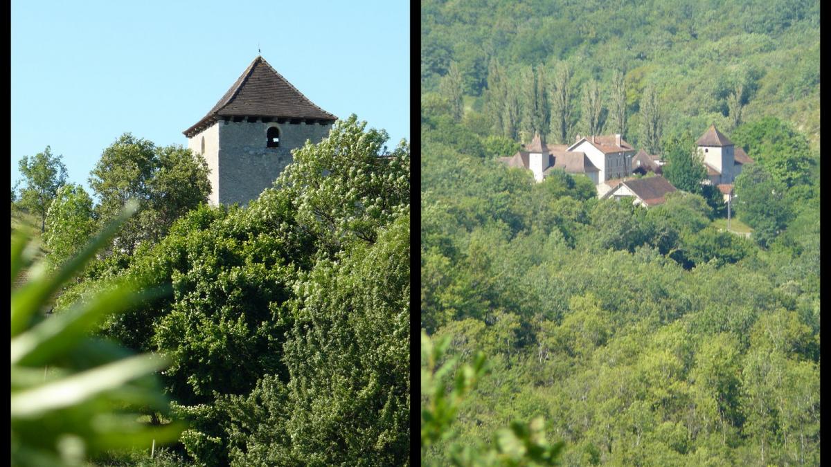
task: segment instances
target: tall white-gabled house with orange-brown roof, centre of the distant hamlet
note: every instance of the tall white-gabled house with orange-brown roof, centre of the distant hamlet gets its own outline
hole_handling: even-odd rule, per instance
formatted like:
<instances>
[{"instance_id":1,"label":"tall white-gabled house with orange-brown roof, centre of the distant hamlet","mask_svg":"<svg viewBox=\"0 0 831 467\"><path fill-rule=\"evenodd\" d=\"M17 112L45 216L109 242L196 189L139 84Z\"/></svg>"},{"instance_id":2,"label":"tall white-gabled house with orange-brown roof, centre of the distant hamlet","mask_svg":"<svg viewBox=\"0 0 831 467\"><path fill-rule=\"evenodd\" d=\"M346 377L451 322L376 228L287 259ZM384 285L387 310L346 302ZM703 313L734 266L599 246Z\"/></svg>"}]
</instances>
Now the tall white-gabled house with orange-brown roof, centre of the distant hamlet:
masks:
<instances>
[{"instance_id":1,"label":"tall white-gabled house with orange-brown roof, centre of the distant hamlet","mask_svg":"<svg viewBox=\"0 0 831 467\"><path fill-rule=\"evenodd\" d=\"M621 135L577 136L577 141L568 146L570 152L582 152L597 167L597 182L616 179L632 174L632 157L635 148Z\"/></svg>"}]
</instances>

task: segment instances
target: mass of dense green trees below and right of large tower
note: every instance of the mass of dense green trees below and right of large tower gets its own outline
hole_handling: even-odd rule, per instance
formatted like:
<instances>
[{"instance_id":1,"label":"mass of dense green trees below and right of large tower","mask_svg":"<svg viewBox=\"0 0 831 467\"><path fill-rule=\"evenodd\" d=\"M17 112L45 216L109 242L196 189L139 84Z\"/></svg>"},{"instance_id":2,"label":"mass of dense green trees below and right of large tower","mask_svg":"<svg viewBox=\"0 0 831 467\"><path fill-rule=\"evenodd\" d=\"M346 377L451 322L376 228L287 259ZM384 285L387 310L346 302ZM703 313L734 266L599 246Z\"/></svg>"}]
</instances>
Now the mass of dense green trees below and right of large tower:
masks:
<instances>
[{"instance_id":1,"label":"mass of dense green trees below and right of large tower","mask_svg":"<svg viewBox=\"0 0 831 467\"><path fill-rule=\"evenodd\" d=\"M101 332L170 358L162 381L189 422L175 448L189 462L406 464L410 154L386 140L339 120L248 206L200 204L61 297L58 309L120 278L172 285ZM150 157L122 142L116 153ZM188 176L171 166L171 184Z\"/></svg>"}]
</instances>

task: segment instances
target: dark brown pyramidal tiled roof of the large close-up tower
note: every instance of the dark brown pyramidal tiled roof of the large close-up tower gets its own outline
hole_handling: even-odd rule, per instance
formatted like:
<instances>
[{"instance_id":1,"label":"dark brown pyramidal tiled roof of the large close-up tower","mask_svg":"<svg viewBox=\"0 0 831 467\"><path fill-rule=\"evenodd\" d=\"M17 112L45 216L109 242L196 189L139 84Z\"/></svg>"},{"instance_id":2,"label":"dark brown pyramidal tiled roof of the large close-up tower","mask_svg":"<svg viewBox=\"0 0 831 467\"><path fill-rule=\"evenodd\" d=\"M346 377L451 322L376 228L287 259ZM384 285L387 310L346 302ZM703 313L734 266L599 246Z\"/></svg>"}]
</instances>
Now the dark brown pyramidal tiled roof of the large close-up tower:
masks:
<instances>
[{"instance_id":1,"label":"dark brown pyramidal tiled roof of the large close-up tower","mask_svg":"<svg viewBox=\"0 0 831 467\"><path fill-rule=\"evenodd\" d=\"M220 117L227 116L337 120L336 116L309 101L260 56L248 65L208 115L183 133L191 137Z\"/></svg>"}]
</instances>

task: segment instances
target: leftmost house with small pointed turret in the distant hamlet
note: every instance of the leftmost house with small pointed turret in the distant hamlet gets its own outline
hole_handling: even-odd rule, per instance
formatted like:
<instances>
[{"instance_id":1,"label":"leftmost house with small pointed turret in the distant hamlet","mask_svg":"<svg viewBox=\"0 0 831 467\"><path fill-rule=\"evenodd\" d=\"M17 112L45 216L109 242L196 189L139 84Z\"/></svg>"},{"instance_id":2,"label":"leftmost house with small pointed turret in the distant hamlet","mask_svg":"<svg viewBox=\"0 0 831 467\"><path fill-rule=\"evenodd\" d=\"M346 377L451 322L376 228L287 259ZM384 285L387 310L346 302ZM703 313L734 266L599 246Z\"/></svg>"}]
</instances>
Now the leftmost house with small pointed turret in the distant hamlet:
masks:
<instances>
[{"instance_id":1,"label":"leftmost house with small pointed turret in the distant hamlet","mask_svg":"<svg viewBox=\"0 0 831 467\"><path fill-rule=\"evenodd\" d=\"M566 150L566 145L547 145L539 133L524 149L512 156L500 157L499 161L509 167L531 170L537 182L546 179L553 170L563 170L567 174L586 175L597 184L600 172L584 153Z\"/></svg>"}]
</instances>

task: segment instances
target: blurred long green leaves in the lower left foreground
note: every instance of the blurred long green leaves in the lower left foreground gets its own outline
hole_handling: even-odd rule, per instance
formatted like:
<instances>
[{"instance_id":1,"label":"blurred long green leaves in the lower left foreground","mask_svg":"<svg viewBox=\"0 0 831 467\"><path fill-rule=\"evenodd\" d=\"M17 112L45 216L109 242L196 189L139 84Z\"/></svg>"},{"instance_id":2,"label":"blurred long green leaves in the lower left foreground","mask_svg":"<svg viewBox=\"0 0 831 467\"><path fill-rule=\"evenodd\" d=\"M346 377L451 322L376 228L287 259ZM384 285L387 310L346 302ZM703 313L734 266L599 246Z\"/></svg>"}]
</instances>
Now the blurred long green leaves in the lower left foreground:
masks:
<instances>
[{"instance_id":1,"label":"blurred long green leaves in the lower left foreground","mask_svg":"<svg viewBox=\"0 0 831 467\"><path fill-rule=\"evenodd\" d=\"M135 284L120 283L47 319L41 314L132 212L135 204L54 274L32 268L33 249L21 235L12 238L12 283L24 268L40 271L12 289L12 465L82 465L107 450L175 440L182 429L136 422L141 407L167 410L153 376L165 360L129 356L89 335L102 317L140 299Z\"/></svg>"}]
</instances>

